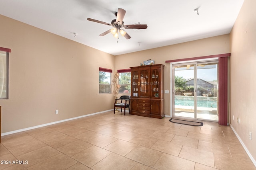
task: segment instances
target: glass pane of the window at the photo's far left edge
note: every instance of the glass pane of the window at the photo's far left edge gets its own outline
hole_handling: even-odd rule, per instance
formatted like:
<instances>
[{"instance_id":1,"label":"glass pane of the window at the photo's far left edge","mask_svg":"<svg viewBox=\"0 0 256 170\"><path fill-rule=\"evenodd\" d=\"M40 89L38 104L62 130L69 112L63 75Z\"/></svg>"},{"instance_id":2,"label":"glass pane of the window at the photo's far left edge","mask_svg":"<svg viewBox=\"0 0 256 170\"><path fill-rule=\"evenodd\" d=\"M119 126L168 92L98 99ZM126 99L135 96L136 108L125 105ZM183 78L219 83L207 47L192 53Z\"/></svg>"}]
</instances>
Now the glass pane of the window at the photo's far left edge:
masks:
<instances>
[{"instance_id":1,"label":"glass pane of the window at the photo's far left edge","mask_svg":"<svg viewBox=\"0 0 256 170\"><path fill-rule=\"evenodd\" d=\"M0 98L8 98L8 74L6 66L6 52L0 51Z\"/></svg>"}]
</instances>

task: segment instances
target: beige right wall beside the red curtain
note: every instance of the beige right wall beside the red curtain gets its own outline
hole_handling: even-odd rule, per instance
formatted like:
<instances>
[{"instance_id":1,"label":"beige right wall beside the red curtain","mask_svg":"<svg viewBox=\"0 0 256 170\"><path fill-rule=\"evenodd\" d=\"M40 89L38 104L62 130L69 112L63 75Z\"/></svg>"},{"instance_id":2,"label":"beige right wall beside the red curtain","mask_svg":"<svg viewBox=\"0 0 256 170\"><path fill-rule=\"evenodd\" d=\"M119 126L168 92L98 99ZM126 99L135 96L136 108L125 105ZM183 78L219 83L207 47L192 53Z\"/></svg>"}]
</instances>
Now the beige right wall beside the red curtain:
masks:
<instances>
[{"instance_id":1,"label":"beige right wall beside the red curtain","mask_svg":"<svg viewBox=\"0 0 256 170\"><path fill-rule=\"evenodd\" d=\"M245 0L230 33L230 124L256 160L256 6ZM234 116L234 120L233 120ZM240 119L240 123L237 122ZM252 132L252 140L249 139Z\"/></svg>"}]
</instances>

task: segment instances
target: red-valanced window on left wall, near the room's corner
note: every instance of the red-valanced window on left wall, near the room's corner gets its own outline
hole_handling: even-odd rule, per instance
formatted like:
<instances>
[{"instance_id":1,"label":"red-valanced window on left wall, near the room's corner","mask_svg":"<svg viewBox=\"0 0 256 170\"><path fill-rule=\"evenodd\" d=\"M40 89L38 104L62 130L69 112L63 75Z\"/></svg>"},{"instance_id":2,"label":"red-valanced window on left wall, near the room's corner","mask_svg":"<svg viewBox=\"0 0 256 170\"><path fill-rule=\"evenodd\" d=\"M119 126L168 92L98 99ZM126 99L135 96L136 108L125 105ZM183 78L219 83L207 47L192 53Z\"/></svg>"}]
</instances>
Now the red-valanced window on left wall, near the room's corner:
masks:
<instances>
[{"instance_id":1,"label":"red-valanced window on left wall, near the room's corner","mask_svg":"<svg viewBox=\"0 0 256 170\"><path fill-rule=\"evenodd\" d=\"M111 73L107 68L99 69L99 93L111 93Z\"/></svg>"}]
</instances>

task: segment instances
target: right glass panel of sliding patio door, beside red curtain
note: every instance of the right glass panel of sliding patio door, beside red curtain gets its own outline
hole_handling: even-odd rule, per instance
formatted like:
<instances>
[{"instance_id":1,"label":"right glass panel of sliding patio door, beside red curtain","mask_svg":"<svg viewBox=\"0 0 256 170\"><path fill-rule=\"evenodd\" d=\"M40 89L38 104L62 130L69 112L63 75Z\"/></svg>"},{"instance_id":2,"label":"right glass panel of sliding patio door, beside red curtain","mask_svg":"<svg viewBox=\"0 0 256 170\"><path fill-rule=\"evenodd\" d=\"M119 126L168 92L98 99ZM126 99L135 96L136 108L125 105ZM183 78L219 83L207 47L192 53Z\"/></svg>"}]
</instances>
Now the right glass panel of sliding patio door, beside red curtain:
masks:
<instances>
[{"instance_id":1,"label":"right glass panel of sliding patio door, beside red curtain","mask_svg":"<svg viewBox=\"0 0 256 170\"><path fill-rule=\"evenodd\" d=\"M218 63L197 64L197 117L218 121Z\"/></svg>"}]
</instances>

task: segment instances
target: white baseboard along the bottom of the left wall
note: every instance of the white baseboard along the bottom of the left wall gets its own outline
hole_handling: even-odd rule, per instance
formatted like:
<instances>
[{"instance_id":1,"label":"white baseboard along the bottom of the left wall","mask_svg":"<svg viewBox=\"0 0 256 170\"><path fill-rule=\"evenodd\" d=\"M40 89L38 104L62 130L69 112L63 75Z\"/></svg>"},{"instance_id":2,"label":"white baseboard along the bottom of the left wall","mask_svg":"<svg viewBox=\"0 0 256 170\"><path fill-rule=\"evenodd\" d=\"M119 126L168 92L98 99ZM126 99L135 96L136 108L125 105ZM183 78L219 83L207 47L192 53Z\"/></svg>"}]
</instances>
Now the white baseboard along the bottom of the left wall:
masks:
<instances>
[{"instance_id":1,"label":"white baseboard along the bottom of the left wall","mask_svg":"<svg viewBox=\"0 0 256 170\"><path fill-rule=\"evenodd\" d=\"M36 128L38 128L38 127L44 127L44 126L48 126L48 125L53 125L53 124L56 124L56 123L61 123L61 122L64 122L64 121L70 121L70 120L74 120L74 119L79 119L79 118L82 118L82 117L87 117L87 116L91 116L91 115L96 115L96 114L100 114L100 113L104 113L104 112L112 111L112 110L113 110L113 109L105 110L105 111L100 111L100 112L91 113L91 114L88 114L88 115L82 115L82 116L78 116L78 117L72 117L72 118L70 118L70 119L64 119L64 120L60 120L60 121L54 121L54 122L51 122L51 123L46 123L46 124L42 124L42 125L37 125L37 126L33 126L33 127L28 127L28 128L24 128L24 129L19 129L19 130L16 130L16 131L10 131L10 132L6 132L6 133L1 133L1 136L10 135L10 134L13 134L13 133L18 133L18 132L23 132L23 131L28 131L28 130L31 130L31 129L36 129Z\"/></svg>"}]
</instances>

